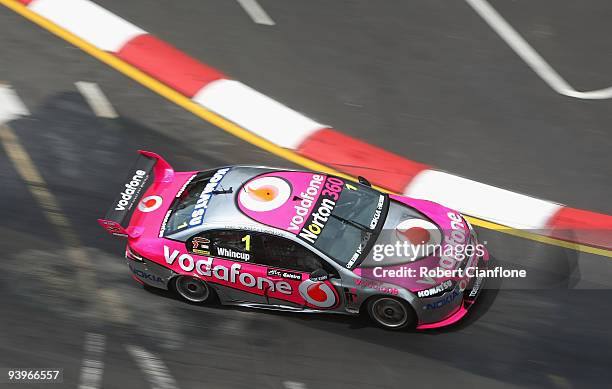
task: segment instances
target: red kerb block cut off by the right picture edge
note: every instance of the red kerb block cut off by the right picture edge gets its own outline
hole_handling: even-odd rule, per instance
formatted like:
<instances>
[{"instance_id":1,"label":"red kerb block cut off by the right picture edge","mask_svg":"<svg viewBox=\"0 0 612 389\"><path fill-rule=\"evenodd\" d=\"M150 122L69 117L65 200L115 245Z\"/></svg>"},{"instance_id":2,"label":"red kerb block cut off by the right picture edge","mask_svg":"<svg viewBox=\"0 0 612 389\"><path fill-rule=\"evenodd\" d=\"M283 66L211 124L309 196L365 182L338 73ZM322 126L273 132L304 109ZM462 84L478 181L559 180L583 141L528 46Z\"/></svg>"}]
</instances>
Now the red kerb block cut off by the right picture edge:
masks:
<instances>
[{"instance_id":1,"label":"red kerb block cut off by the right picture edge","mask_svg":"<svg viewBox=\"0 0 612 389\"><path fill-rule=\"evenodd\" d=\"M548 227L554 238L612 249L612 216L563 207L548 221Z\"/></svg>"}]
</instances>

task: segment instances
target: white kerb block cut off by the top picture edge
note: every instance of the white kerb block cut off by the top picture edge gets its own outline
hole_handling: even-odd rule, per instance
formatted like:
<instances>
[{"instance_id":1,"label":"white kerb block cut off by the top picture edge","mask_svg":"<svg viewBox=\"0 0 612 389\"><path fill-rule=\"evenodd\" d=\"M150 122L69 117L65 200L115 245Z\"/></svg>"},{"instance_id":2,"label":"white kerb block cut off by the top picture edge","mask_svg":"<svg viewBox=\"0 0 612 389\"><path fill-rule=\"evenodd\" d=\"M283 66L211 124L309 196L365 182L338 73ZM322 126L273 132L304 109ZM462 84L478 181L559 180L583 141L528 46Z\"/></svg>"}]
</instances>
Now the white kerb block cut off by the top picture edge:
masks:
<instances>
[{"instance_id":1,"label":"white kerb block cut off by the top picture edge","mask_svg":"<svg viewBox=\"0 0 612 389\"><path fill-rule=\"evenodd\" d=\"M99 49L118 52L146 31L87 0L37 0L32 11Z\"/></svg>"}]
</instances>

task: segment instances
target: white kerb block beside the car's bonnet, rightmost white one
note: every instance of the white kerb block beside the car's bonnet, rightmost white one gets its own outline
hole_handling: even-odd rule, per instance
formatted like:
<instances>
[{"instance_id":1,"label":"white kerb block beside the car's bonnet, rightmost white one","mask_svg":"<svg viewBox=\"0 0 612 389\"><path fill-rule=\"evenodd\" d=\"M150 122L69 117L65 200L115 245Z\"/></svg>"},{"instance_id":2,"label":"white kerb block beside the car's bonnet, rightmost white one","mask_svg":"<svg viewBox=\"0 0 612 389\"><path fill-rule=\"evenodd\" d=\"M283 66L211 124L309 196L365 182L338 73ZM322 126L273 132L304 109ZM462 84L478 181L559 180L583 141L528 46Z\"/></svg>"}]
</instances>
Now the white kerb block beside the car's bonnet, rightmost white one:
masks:
<instances>
[{"instance_id":1,"label":"white kerb block beside the car's bonnet, rightmost white one","mask_svg":"<svg viewBox=\"0 0 612 389\"><path fill-rule=\"evenodd\" d=\"M561 205L436 170L424 170L404 194L518 229L544 228Z\"/></svg>"}]
</instances>

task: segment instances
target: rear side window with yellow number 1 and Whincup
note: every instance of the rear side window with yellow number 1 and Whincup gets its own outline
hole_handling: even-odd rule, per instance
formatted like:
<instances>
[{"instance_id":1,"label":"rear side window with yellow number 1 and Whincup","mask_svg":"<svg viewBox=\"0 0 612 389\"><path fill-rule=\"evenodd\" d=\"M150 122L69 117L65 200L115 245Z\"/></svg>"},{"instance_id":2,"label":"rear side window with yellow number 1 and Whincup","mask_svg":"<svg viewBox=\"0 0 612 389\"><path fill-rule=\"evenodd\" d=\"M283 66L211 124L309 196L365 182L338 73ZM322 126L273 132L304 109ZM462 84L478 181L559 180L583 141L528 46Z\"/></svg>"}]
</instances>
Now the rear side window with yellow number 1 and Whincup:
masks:
<instances>
[{"instance_id":1,"label":"rear side window with yellow number 1 and Whincup","mask_svg":"<svg viewBox=\"0 0 612 389\"><path fill-rule=\"evenodd\" d=\"M244 230L205 231L187 241L187 248L200 255L250 262L255 258L258 234Z\"/></svg>"}]
</instances>

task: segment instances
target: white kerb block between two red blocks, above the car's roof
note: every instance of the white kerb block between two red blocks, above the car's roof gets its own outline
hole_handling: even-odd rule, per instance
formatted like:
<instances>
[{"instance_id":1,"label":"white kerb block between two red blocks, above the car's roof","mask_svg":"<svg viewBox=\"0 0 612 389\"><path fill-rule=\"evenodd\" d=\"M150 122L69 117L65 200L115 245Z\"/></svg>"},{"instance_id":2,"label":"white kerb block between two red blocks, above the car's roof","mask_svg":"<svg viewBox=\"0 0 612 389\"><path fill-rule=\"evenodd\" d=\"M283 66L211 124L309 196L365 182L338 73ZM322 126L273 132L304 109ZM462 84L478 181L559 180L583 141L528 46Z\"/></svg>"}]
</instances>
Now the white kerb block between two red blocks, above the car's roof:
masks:
<instances>
[{"instance_id":1,"label":"white kerb block between two red blocks, above the car's roof","mask_svg":"<svg viewBox=\"0 0 612 389\"><path fill-rule=\"evenodd\" d=\"M193 101L281 147L297 149L326 126L233 80L206 85Z\"/></svg>"}]
</instances>

